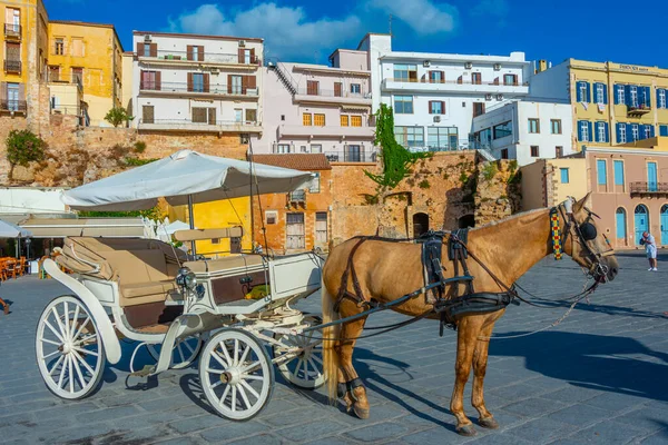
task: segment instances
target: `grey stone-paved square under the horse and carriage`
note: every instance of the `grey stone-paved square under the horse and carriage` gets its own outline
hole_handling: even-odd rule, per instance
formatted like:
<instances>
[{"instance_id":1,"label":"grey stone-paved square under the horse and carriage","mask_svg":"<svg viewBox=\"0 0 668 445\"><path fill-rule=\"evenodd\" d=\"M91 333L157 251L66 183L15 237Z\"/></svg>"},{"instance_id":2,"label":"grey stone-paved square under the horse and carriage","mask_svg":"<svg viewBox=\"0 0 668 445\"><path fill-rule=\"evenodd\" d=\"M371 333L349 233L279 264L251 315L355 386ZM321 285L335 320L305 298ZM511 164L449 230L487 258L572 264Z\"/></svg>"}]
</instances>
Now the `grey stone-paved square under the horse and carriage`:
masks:
<instances>
[{"instance_id":1,"label":"grey stone-paved square under the horse and carriage","mask_svg":"<svg viewBox=\"0 0 668 445\"><path fill-rule=\"evenodd\" d=\"M454 433L449 413L455 335L438 324L361 340L355 366L369 388L371 418L328 406L322 390L298 392L277 375L267 408L233 423L210 414L194 367L169 370L144 386L128 382L125 360L107 367L101 389L82 402L52 396L38 374L35 327L50 298L65 293L53 280L21 278L0 287L13 301L0 314L0 442L17 444L583 444L668 443L668 266L648 273L638 253L619 256L617 280L602 286L557 328L494 340L485 379L488 408L498 431ZM659 259L668 259L668 256ZM520 280L557 298L581 289L570 260L546 259ZM320 312L313 296L304 309ZM566 306L511 306L495 334L521 334L560 317ZM402 319L374 315L370 325ZM145 357L148 360L148 357ZM147 362L148 363L148 362ZM135 385L135 386L131 386ZM470 395L470 385L466 392ZM466 402L475 422L475 411Z\"/></svg>"}]
</instances>

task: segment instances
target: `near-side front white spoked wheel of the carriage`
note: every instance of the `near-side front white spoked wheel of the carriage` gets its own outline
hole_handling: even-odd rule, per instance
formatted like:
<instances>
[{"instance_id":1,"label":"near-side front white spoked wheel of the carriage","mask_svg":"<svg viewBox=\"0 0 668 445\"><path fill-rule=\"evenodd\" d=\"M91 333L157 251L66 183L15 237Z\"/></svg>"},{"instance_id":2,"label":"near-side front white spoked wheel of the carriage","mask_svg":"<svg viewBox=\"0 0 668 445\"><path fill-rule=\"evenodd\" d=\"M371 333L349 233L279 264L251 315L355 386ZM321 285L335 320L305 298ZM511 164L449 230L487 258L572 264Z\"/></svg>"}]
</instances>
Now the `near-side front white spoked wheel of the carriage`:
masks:
<instances>
[{"instance_id":1,"label":"near-side front white spoked wheel of the carriage","mask_svg":"<svg viewBox=\"0 0 668 445\"><path fill-rule=\"evenodd\" d=\"M269 402L274 367L253 335L234 328L216 333L199 358L199 379L208 403L232 421L248 421Z\"/></svg>"}]
</instances>

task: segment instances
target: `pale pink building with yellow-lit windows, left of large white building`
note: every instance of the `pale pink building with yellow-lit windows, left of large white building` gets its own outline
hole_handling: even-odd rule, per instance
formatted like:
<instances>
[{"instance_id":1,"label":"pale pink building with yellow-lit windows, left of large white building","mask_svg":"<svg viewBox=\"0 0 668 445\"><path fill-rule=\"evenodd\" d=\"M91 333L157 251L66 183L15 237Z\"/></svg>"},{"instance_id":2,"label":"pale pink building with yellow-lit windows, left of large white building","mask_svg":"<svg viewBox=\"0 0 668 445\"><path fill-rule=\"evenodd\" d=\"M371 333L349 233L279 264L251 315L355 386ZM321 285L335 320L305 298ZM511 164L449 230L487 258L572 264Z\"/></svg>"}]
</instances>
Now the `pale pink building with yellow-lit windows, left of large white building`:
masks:
<instances>
[{"instance_id":1,"label":"pale pink building with yellow-lit windows, left of large white building","mask_svg":"<svg viewBox=\"0 0 668 445\"><path fill-rule=\"evenodd\" d=\"M255 152L323 152L331 162L373 162L366 51L336 50L324 65L269 62L264 132Z\"/></svg>"}]
</instances>

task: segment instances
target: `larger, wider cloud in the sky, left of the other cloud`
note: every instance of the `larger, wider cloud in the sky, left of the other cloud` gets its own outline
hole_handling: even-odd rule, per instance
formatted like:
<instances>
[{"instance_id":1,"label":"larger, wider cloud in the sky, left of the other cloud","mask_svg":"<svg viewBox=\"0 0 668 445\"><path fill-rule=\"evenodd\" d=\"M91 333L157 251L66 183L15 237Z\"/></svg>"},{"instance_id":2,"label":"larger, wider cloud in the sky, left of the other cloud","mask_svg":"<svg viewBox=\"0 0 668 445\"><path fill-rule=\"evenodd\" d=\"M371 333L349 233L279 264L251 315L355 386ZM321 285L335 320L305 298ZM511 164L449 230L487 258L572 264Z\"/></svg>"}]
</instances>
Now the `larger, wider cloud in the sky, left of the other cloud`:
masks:
<instances>
[{"instance_id":1,"label":"larger, wider cloud in the sky, left of the other cloud","mask_svg":"<svg viewBox=\"0 0 668 445\"><path fill-rule=\"evenodd\" d=\"M259 3L252 9L226 13L217 4L203 4L170 20L170 29L181 32L262 37L268 56L321 58L341 42L362 38L356 16L343 19L320 18L310 21L302 8ZM327 52L328 55L328 52Z\"/></svg>"}]
</instances>

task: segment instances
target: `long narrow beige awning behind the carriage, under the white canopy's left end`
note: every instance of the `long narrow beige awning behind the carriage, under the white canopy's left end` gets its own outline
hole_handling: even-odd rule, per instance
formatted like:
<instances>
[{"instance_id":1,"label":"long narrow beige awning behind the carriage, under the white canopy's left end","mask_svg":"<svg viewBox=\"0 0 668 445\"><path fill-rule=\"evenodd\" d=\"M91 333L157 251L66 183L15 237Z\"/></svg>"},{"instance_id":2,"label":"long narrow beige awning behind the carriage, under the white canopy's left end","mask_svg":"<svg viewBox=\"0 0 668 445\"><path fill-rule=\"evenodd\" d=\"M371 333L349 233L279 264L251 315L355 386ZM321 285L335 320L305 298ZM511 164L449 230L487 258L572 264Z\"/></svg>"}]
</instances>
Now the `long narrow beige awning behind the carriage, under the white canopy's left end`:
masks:
<instances>
[{"instance_id":1,"label":"long narrow beige awning behind the carriage, under the white canopy's left end","mask_svg":"<svg viewBox=\"0 0 668 445\"><path fill-rule=\"evenodd\" d=\"M141 218L31 218L21 224L21 227L30 230L32 238L66 238L70 236L145 237L145 225Z\"/></svg>"}]
</instances>

